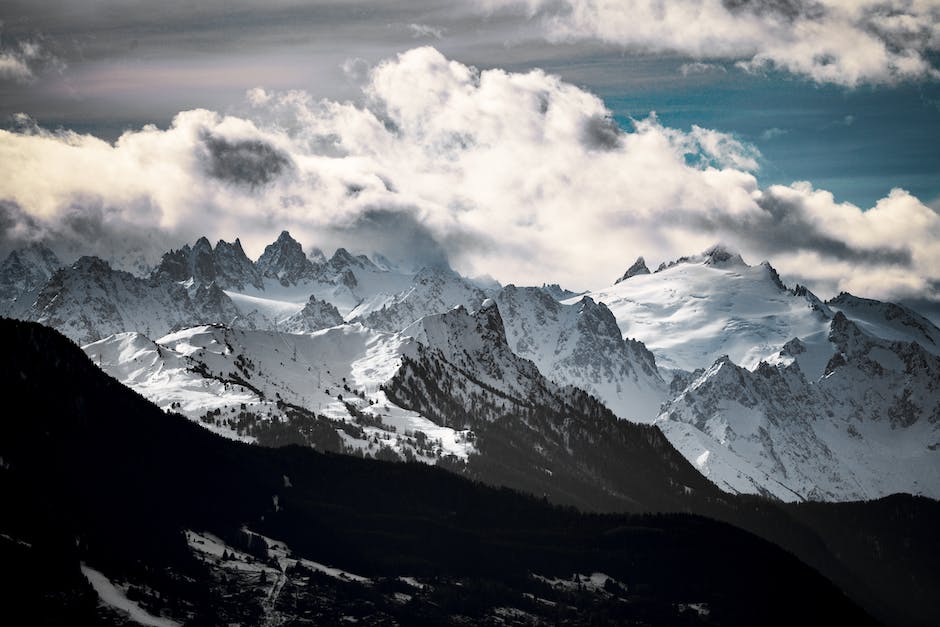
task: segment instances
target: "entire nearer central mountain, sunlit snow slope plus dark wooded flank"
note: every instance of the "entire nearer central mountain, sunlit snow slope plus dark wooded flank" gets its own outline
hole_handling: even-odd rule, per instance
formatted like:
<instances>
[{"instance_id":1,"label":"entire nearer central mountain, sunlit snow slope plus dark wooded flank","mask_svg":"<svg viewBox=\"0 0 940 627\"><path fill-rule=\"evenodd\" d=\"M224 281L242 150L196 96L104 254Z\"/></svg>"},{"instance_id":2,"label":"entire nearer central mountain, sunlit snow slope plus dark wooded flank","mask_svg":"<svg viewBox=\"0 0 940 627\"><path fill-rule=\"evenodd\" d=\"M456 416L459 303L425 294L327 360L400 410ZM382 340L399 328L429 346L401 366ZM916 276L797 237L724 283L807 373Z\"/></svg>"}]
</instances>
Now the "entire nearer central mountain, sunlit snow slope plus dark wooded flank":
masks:
<instances>
[{"instance_id":1,"label":"entire nearer central mountain, sunlit snow slope plus dark wooded flank","mask_svg":"<svg viewBox=\"0 0 940 627\"><path fill-rule=\"evenodd\" d=\"M156 342L118 334L85 352L160 407L230 438L444 462L530 491L547 481L581 505L622 509L638 495L669 503L714 489L655 428L618 420L513 353L493 301L399 334L201 326Z\"/></svg>"}]
</instances>

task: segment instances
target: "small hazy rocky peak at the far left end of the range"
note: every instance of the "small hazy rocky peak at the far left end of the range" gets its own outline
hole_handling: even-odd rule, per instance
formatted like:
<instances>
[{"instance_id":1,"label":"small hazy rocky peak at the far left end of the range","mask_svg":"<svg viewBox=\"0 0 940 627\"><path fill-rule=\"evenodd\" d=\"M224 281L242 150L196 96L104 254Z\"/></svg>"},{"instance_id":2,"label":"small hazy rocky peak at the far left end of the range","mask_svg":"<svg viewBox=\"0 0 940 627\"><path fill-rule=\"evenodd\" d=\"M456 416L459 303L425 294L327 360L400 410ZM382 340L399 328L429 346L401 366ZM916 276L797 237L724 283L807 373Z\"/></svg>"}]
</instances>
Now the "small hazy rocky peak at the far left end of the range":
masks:
<instances>
[{"instance_id":1,"label":"small hazy rocky peak at the far left end of the range","mask_svg":"<svg viewBox=\"0 0 940 627\"><path fill-rule=\"evenodd\" d=\"M0 264L0 315L22 315L42 286L61 267L56 254L40 243L7 255Z\"/></svg>"}]
</instances>

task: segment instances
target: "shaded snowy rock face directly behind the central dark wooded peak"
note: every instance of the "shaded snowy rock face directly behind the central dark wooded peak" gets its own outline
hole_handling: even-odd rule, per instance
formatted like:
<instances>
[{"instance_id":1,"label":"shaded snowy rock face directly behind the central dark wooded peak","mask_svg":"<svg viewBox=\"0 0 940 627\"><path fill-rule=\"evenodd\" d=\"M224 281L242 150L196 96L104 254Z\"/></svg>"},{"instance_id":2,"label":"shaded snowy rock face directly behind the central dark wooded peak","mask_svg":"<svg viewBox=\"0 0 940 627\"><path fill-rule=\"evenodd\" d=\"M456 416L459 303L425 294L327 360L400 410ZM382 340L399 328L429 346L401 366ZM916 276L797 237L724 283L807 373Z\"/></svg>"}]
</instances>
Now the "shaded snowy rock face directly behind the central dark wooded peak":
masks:
<instances>
[{"instance_id":1,"label":"shaded snowy rock face directly behind the central dark wooded peak","mask_svg":"<svg viewBox=\"0 0 940 627\"><path fill-rule=\"evenodd\" d=\"M508 285L496 295L509 346L558 383L580 387L621 418L652 422L668 386L641 342L624 340L603 303L563 305L541 288Z\"/></svg>"}]
</instances>

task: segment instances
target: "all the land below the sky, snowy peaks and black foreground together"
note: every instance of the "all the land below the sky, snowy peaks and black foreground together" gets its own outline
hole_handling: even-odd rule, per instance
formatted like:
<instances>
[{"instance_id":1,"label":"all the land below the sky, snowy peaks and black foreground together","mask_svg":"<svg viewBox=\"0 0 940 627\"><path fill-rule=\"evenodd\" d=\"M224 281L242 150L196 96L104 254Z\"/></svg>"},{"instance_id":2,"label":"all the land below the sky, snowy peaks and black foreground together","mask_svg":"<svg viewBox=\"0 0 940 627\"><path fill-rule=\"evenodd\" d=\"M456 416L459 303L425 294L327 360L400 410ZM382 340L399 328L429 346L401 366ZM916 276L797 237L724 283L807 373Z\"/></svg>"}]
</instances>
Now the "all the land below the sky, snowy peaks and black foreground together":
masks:
<instances>
[{"instance_id":1,"label":"all the land below the sky, snowy peaks and black foreground together","mask_svg":"<svg viewBox=\"0 0 940 627\"><path fill-rule=\"evenodd\" d=\"M940 620L927 318L721 246L587 293L360 252L285 231L254 261L201 238L143 272L9 255L3 377L34 410L3 421L0 542L58 569L17 603L161 625L239 604L253 624Z\"/></svg>"}]
</instances>

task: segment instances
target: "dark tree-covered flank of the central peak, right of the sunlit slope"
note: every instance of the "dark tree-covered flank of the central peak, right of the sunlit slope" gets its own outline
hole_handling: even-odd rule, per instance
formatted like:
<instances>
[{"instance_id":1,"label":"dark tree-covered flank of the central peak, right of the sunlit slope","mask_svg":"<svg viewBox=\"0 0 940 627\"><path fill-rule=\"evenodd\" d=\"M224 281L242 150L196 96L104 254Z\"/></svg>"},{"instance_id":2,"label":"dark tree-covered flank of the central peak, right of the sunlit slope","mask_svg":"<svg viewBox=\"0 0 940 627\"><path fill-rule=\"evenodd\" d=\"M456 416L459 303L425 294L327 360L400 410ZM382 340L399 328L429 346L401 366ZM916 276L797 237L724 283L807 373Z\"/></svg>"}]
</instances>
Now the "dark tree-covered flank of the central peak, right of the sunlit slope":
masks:
<instances>
[{"instance_id":1,"label":"dark tree-covered flank of the central peak, right of the sunlit slope","mask_svg":"<svg viewBox=\"0 0 940 627\"><path fill-rule=\"evenodd\" d=\"M470 476L589 508L630 508L638 495L665 506L713 489L656 428L619 420L516 355L492 299L473 313L427 316L403 334L418 339L417 351L384 389L401 407L473 431Z\"/></svg>"}]
</instances>

